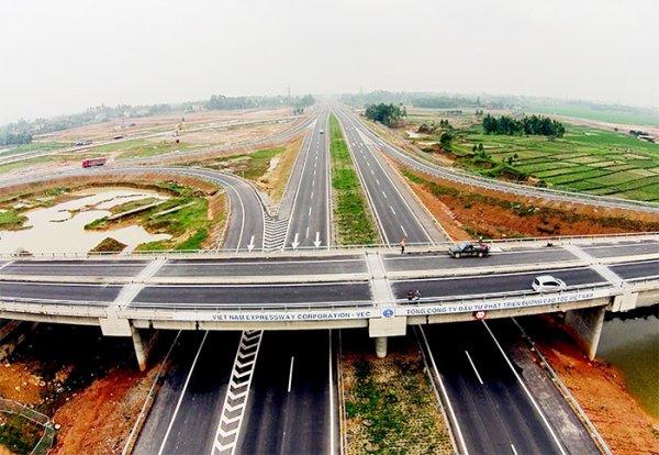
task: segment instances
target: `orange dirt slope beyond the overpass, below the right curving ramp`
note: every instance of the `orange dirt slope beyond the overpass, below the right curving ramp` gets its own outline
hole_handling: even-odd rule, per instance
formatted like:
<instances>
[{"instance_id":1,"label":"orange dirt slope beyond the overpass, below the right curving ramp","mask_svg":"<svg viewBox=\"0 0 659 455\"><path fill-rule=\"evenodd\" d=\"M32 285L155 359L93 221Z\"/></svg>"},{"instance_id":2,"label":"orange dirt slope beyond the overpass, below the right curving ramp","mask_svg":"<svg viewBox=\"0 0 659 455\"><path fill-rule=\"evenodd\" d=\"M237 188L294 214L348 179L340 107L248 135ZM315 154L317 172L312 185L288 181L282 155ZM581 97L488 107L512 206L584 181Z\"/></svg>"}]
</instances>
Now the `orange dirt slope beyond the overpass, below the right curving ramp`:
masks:
<instances>
[{"instance_id":1,"label":"orange dirt slope beyond the overpass, below the right curving ramp","mask_svg":"<svg viewBox=\"0 0 659 455\"><path fill-rule=\"evenodd\" d=\"M522 197L429 176L405 166L409 184L455 240L659 231L659 215Z\"/></svg>"}]
</instances>

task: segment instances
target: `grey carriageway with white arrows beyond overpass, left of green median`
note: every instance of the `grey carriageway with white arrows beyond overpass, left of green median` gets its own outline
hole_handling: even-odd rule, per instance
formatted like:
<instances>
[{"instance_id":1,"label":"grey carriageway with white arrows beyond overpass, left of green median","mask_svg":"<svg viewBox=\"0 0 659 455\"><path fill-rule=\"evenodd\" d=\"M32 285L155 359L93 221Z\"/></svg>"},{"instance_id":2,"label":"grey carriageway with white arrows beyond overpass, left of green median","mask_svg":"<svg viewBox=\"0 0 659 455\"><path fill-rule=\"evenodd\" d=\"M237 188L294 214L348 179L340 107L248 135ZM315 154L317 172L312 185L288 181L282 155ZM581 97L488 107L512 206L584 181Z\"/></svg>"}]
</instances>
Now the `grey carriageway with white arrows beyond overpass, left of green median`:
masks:
<instances>
[{"instance_id":1,"label":"grey carriageway with white arrows beyond overpass, left of green median","mask_svg":"<svg viewBox=\"0 0 659 455\"><path fill-rule=\"evenodd\" d=\"M310 141L300 151L302 169L297 180L284 242L286 249L326 247L332 241L330 226L330 154L327 152L327 109L322 109ZM322 133L321 133L322 132Z\"/></svg>"}]
</instances>

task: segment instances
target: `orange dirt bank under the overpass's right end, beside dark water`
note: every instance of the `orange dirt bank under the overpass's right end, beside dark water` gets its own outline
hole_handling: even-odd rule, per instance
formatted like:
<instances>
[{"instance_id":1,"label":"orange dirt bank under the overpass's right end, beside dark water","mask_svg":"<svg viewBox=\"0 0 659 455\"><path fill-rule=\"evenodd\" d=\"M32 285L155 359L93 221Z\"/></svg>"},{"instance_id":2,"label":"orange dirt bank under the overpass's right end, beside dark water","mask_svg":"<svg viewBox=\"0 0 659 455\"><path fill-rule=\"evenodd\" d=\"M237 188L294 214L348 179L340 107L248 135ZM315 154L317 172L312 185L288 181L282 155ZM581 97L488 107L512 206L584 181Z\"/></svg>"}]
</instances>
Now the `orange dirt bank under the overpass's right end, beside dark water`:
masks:
<instances>
[{"instance_id":1,"label":"orange dirt bank under the overpass's right end, beside dark water","mask_svg":"<svg viewBox=\"0 0 659 455\"><path fill-rule=\"evenodd\" d=\"M659 454L659 421L627 392L608 364L591 362L562 329L559 318L527 319L527 332L606 445L615 454Z\"/></svg>"}]
</instances>

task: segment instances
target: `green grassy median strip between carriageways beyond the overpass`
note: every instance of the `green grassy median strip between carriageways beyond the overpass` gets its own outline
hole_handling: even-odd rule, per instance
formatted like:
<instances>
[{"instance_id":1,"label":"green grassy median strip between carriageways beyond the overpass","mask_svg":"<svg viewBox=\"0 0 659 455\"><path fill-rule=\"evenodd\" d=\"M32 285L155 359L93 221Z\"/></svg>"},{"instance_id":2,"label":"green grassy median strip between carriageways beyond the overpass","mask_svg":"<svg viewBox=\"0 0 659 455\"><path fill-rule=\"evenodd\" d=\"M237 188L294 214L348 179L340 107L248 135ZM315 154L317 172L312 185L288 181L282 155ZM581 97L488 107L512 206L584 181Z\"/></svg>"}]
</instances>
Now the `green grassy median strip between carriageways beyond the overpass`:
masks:
<instances>
[{"instance_id":1,"label":"green grassy median strip between carriageways beyond the overpass","mask_svg":"<svg viewBox=\"0 0 659 455\"><path fill-rule=\"evenodd\" d=\"M379 242L378 231L336 116L330 118L332 188L337 245L369 245Z\"/></svg>"}]
</instances>

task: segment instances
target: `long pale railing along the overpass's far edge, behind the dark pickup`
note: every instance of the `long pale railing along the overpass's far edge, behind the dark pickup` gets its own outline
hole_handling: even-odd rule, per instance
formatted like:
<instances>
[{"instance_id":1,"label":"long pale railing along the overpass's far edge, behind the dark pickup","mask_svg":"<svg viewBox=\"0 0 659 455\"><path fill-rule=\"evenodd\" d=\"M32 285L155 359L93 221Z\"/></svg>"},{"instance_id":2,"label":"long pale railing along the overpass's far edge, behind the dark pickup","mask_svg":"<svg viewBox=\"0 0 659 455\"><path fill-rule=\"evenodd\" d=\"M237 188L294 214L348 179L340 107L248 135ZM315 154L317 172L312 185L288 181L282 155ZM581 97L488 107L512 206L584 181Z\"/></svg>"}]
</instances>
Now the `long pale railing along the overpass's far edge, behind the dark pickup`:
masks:
<instances>
[{"instance_id":1,"label":"long pale railing along the overpass's far edge, behind the dark pickup","mask_svg":"<svg viewBox=\"0 0 659 455\"><path fill-rule=\"evenodd\" d=\"M562 243L572 242L595 242L595 241L640 241L644 238L659 237L659 231L652 232L629 232L621 234L589 234L589 235L555 235L555 236L543 236L543 237L522 237L522 238L498 238L498 240L483 240L483 243L490 246L524 246L541 244L544 246L560 245ZM407 251L423 249L428 252L444 252L445 248L451 246L451 242L440 243L407 243L405 248ZM400 246L398 243L393 244L369 244L369 245L333 245L333 246L305 246L305 247L284 247L283 251L278 249L267 254L294 254L294 253L326 253L326 252L356 252L356 251L390 251L398 249ZM261 249L254 248L248 251L243 249L153 249L153 251L132 251L132 252L16 252L16 253L0 253L0 259L88 259L88 258L101 258L101 257L190 257L190 256L235 256L237 254L249 255L249 254L264 254Z\"/></svg>"}]
</instances>

